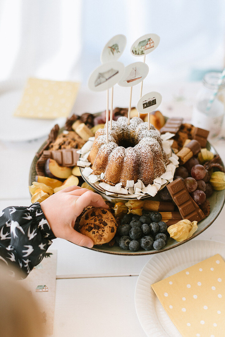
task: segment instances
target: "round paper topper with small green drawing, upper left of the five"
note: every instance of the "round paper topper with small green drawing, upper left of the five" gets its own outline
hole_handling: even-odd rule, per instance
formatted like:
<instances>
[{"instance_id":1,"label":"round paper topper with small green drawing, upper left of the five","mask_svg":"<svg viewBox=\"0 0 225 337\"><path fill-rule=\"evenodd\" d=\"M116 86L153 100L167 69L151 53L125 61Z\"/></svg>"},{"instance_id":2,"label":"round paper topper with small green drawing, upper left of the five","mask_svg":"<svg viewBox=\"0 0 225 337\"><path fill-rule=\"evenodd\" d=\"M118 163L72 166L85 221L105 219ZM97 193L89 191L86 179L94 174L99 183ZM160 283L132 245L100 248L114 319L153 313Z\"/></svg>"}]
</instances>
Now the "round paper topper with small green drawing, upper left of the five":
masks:
<instances>
[{"instance_id":1,"label":"round paper topper with small green drawing, upper left of the five","mask_svg":"<svg viewBox=\"0 0 225 337\"><path fill-rule=\"evenodd\" d=\"M122 55L126 47L126 37L125 35L115 35L113 36L103 48L101 54L101 62L107 63L110 61L117 61Z\"/></svg>"}]
</instances>

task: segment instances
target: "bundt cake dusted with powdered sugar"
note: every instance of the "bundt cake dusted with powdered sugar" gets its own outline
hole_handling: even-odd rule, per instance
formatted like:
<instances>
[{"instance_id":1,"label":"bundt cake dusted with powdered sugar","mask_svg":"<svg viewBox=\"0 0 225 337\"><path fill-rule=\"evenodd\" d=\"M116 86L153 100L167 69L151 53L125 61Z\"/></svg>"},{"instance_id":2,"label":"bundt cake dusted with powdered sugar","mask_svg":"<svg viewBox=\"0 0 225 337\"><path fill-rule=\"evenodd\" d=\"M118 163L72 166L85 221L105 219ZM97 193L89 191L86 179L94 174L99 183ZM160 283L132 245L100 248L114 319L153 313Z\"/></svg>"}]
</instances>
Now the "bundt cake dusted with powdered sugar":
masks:
<instances>
[{"instance_id":1,"label":"bundt cake dusted with powdered sugar","mask_svg":"<svg viewBox=\"0 0 225 337\"><path fill-rule=\"evenodd\" d=\"M106 143L106 126L95 133L95 140L88 160L93 174L105 173L102 181L115 185L127 180L140 179L145 186L165 172L168 158L163 151L162 140L154 126L133 117L128 125L127 117L113 121Z\"/></svg>"}]
</instances>

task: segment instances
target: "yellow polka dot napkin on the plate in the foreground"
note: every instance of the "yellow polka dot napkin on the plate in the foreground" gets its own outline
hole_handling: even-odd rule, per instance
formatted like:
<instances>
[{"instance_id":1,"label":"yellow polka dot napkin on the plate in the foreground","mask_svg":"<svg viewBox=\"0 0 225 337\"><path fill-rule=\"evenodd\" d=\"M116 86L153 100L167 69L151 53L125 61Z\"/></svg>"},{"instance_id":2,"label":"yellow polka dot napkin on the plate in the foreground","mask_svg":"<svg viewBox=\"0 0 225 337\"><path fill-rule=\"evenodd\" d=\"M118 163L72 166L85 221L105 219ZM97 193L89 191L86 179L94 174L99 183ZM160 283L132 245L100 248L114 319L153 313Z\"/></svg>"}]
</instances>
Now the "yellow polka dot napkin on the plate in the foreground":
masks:
<instances>
[{"instance_id":1,"label":"yellow polka dot napkin on the plate in the foreground","mask_svg":"<svg viewBox=\"0 0 225 337\"><path fill-rule=\"evenodd\" d=\"M183 337L225 336L225 263L219 254L151 287Z\"/></svg>"}]
</instances>

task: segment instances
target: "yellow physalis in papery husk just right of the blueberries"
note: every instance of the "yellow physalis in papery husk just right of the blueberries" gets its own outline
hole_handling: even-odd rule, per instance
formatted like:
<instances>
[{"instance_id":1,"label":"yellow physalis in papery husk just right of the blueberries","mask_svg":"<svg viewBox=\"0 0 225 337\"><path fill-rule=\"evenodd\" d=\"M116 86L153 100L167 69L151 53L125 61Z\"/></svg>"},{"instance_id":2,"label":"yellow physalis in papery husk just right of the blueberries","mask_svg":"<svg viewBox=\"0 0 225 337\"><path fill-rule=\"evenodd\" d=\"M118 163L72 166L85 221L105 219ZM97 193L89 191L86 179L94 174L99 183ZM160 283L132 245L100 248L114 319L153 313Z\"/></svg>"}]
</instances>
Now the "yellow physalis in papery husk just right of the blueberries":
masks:
<instances>
[{"instance_id":1,"label":"yellow physalis in papery husk just right of the blueberries","mask_svg":"<svg viewBox=\"0 0 225 337\"><path fill-rule=\"evenodd\" d=\"M197 230L197 221L189 221L188 219L183 219L171 225L167 228L167 231L171 238L180 242L190 238Z\"/></svg>"}]
</instances>

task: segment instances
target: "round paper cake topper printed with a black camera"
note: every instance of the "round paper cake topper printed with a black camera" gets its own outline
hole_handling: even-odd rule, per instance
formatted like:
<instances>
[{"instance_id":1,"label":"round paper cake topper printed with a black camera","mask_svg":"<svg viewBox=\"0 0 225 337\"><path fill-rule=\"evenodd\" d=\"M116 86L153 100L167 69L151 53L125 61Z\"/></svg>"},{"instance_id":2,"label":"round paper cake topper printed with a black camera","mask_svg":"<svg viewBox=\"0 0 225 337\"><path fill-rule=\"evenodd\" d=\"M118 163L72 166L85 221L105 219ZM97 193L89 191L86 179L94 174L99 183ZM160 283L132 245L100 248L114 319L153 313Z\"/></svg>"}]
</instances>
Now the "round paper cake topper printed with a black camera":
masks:
<instances>
[{"instance_id":1,"label":"round paper cake topper printed with a black camera","mask_svg":"<svg viewBox=\"0 0 225 337\"><path fill-rule=\"evenodd\" d=\"M140 114L152 112L160 106L161 102L162 96L159 92L148 92L139 99L137 103L137 111L140 112Z\"/></svg>"}]
</instances>

